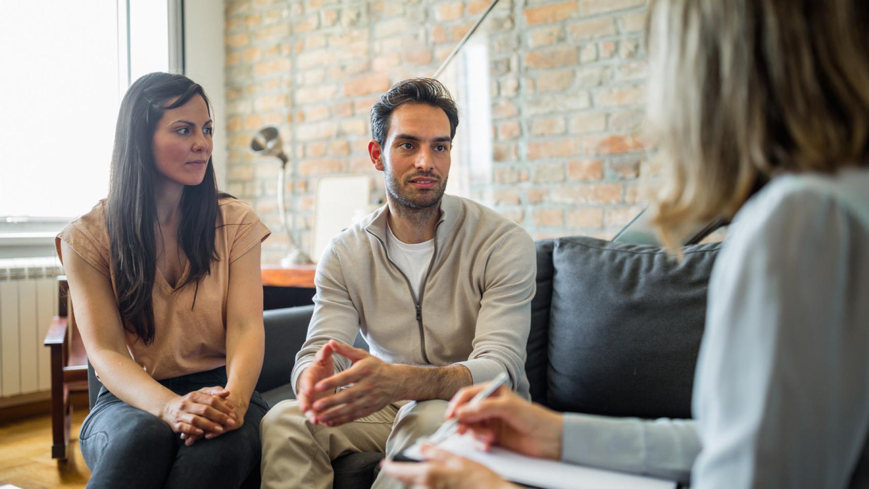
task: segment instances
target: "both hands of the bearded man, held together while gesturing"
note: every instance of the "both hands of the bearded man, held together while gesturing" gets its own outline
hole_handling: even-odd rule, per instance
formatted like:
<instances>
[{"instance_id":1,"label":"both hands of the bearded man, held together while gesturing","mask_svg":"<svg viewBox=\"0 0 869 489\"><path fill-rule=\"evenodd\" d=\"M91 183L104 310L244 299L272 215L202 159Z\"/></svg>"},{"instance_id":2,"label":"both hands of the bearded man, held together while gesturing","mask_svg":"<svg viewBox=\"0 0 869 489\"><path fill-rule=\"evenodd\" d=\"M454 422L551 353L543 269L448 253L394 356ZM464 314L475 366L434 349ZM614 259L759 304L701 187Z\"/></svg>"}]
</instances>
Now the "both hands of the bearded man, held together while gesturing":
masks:
<instances>
[{"instance_id":1,"label":"both hands of the bearded man, held together while gesturing","mask_svg":"<svg viewBox=\"0 0 869 489\"><path fill-rule=\"evenodd\" d=\"M333 354L346 357L353 365L335 374ZM358 420L401 398L400 369L365 350L329 340L299 376L299 408L314 424L339 426ZM338 387L345 388L336 392Z\"/></svg>"}]
</instances>

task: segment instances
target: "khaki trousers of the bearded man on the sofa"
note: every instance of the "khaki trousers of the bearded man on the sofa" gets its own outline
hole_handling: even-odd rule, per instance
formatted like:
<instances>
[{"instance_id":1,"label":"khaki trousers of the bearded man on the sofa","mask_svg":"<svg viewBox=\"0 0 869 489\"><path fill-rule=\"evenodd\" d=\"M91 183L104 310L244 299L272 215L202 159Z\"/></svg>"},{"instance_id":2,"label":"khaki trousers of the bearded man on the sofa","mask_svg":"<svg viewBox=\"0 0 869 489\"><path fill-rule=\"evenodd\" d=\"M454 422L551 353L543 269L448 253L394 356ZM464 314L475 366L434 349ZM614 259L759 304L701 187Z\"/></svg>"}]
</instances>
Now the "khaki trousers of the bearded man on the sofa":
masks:
<instances>
[{"instance_id":1,"label":"khaki trousers of the bearded man on the sofa","mask_svg":"<svg viewBox=\"0 0 869 489\"><path fill-rule=\"evenodd\" d=\"M332 460L347 453L394 456L428 436L444 421L446 400L401 401L342 426L312 425L297 401L284 400L260 424L262 487L329 489ZM401 487L381 472L373 489Z\"/></svg>"}]
</instances>

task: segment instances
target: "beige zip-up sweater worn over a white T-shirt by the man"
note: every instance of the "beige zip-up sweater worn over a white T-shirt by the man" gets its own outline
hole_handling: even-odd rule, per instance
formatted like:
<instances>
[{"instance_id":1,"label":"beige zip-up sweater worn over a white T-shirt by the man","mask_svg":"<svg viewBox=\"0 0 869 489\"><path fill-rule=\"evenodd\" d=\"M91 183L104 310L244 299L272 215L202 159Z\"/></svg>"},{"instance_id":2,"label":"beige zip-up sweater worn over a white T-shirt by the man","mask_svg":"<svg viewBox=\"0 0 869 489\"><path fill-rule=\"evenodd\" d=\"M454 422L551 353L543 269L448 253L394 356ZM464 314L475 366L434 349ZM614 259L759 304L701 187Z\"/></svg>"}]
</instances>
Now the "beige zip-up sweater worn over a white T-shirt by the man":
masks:
<instances>
[{"instance_id":1,"label":"beige zip-up sweater worn over a white T-shirt by the man","mask_svg":"<svg viewBox=\"0 0 869 489\"><path fill-rule=\"evenodd\" d=\"M531 236L481 204L444 195L434 255L415 297L386 251L387 209L336 235L323 252L293 388L323 344L353 344L361 329L371 354L381 360L461 364L474 384L506 371L514 390L527 398L525 347L537 273ZM340 355L333 358L336 371L350 365Z\"/></svg>"}]
</instances>

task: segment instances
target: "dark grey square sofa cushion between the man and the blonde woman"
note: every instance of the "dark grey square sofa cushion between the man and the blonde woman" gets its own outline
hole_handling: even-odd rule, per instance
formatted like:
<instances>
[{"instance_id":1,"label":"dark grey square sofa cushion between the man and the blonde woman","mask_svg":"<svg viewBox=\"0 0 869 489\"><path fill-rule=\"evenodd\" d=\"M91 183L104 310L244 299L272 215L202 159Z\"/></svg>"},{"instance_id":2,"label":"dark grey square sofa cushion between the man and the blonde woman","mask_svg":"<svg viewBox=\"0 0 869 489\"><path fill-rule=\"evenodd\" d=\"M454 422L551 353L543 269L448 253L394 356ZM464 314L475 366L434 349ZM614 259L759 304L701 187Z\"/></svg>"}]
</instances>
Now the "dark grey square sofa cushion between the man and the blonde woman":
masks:
<instances>
[{"instance_id":1,"label":"dark grey square sofa cushion between the man and the blonde woman","mask_svg":"<svg viewBox=\"0 0 869 489\"><path fill-rule=\"evenodd\" d=\"M547 404L690 418L706 288L719 248L687 247L679 262L653 246L555 240Z\"/></svg>"}]
</instances>

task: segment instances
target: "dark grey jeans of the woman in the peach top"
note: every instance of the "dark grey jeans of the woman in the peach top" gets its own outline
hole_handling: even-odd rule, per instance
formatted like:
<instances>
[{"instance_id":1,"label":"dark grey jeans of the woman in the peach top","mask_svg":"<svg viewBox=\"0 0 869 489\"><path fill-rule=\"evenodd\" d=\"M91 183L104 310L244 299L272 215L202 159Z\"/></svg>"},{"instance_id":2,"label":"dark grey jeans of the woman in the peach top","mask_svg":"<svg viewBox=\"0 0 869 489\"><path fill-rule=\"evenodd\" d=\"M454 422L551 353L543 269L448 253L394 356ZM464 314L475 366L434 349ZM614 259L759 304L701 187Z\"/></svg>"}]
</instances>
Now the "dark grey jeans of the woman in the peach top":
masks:
<instances>
[{"instance_id":1,"label":"dark grey jeans of the woman in the peach top","mask_svg":"<svg viewBox=\"0 0 869 489\"><path fill-rule=\"evenodd\" d=\"M226 368L160 383L179 395L202 387L225 387ZM88 487L237 488L249 475L258 480L260 420L268 410L255 392L241 428L184 446L163 420L129 406L103 387L79 434L91 472Z\"/></svg>"}]
</instances>

